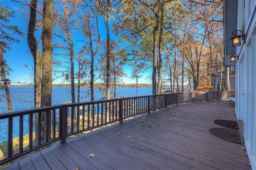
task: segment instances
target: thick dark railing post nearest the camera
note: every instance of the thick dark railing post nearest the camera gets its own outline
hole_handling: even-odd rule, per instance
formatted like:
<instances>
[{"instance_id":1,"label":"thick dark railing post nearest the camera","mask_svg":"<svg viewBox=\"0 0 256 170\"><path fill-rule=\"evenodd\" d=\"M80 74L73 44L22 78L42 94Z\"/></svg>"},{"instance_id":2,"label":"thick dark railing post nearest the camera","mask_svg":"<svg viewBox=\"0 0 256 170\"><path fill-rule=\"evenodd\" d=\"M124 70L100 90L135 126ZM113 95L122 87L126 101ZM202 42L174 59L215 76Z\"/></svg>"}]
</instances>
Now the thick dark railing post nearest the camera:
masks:
<instances>
[{"instance_id":1,"label":"thick dark railing post nearest the camera","mask_svg":"<svg viewBox=\"0 0 256 170\"><path fill-rule=\"evenodd\" d=\"M61 134L60 144L63 144L66 142L66 134L67 134L67 124L68 124L68 113L67 113L67 107L60 108L60 122L59 122L59 131ZM72 121L72 120L71 120Z\"/></svg>"}]
</instances>

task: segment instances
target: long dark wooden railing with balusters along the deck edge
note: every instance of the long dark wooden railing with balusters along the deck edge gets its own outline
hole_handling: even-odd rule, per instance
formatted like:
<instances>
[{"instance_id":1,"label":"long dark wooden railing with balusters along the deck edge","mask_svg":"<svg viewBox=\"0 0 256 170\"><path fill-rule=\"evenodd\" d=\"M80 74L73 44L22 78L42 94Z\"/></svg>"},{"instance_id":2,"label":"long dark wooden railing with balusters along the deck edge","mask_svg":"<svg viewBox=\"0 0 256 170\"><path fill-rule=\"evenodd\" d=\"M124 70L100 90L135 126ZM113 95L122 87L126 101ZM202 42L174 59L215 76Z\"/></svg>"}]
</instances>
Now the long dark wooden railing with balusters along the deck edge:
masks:
<instances>
[{"instance_id":1,"label":"long dark wooden railing with balusters along the deck edge","mask_svg":"<svg viewBox=\"0 0 256 170\"><path fill-rule=\"evenodd\" d=\"M228 91L174 93L62 104L0 114L6 123L6 142L1 141L1 165L56 141L123 119L186 102L228 98ZM14 135L18 131L18 136ZM1 137L2 139L2 137ZM15 143L13 141L16 141ZM4 145L5 144L5 145ZM7 144L7 145L6 145ZM6 148L4 148L6 146Z\"/></svg>"}]
</instances>

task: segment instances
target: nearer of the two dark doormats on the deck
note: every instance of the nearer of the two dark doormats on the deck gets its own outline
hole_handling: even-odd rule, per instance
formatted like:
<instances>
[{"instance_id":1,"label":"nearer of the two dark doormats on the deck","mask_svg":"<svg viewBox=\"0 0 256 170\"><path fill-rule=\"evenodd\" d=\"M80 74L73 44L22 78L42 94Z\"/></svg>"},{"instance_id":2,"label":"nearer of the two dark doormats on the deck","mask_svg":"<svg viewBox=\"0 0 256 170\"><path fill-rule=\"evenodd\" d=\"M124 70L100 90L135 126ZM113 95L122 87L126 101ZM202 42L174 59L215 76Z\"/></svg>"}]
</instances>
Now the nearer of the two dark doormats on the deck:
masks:
<instances>
[{"instance_id":1,"label":"nearer of the two dark doormats on the deck","mask_svg":"<svg viewBox=\"0 0 256 170\"><path fill-rule=\"evenodd\" d=\"M242 144L239 138L239 134L235 129L211 128L209 129L209 132L220 139Z\"/></svg>"}]
</instances>

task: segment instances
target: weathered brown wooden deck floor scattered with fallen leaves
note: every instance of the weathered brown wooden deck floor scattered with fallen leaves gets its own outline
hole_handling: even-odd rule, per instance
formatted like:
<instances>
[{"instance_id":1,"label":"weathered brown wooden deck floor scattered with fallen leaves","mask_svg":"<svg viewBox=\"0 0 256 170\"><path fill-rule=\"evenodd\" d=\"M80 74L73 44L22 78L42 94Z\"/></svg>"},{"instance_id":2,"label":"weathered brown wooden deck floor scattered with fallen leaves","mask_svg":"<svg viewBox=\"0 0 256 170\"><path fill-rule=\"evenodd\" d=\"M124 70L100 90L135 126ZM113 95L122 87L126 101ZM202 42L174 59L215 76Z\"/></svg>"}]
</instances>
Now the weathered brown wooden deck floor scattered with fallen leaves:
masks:
<instances>
[{"instance_id":1,"label":"weathered brown wooden deck floor scattered with fallen leaves","mask_svg":"<svg viewBox=\"0 0 256 170\"><path fill-rule=\"evenodd\" d=\"M243 145L209 133L220 127L216 119L237 121L228 100L176 105L67 139L5 169L250 169Z\"/></svg>"}]
</instances>

